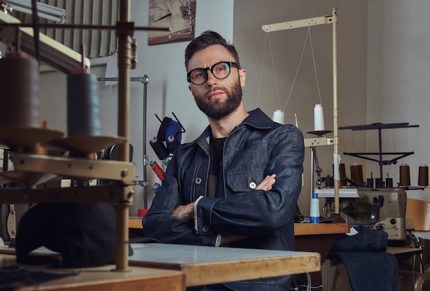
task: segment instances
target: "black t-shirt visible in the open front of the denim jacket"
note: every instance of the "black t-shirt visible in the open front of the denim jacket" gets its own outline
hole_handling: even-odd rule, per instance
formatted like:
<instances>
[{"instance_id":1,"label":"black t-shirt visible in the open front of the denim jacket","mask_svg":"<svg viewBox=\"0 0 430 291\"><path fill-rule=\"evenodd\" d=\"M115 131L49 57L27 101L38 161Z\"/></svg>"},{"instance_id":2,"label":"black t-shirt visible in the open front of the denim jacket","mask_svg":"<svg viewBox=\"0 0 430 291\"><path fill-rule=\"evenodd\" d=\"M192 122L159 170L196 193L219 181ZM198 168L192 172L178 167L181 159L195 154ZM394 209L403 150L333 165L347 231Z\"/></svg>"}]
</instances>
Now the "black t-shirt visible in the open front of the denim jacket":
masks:
<instances>
[{"instance_id":1,"label":"black t-shirt visible in the open front of the denim jacket","mask_svg":"<svg viewBox=\"0 0 430 291\"><path fill-rule=\"evenodd\" d=\"M207 179L207 196L210 198L218 197L218 174L220 172L220 163L223 162L223 148L225 137L214 139L210 137L209 152L210 152L210 167L209 177Z\"/></svg>"}]
</instances>

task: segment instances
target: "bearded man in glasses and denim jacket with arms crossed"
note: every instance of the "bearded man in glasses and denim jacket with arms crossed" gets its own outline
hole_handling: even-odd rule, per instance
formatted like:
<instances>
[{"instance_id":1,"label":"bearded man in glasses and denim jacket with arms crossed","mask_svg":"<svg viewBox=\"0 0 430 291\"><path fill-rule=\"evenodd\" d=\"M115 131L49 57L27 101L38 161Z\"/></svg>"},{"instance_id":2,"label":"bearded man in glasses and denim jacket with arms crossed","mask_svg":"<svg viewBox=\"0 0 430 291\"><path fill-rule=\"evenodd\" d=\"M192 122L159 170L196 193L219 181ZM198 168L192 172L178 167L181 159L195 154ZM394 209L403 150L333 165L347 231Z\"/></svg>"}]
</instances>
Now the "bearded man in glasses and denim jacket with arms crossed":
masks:
<instances>
[{"instance_id":1,"label":"bearded man in glasses and denim jacket with arms crossed","mask_svg":"<svg viewBox=\"0 0 430 291\"><path fill-rule=\"evenodd\" d=\"M185 49L189 89L209 126L172 156L142 224L162 243L294 251L304 139L242 100L246 71L234 45L203 32ZM209 275L209 274L208 274ZM288 290L291 276L202 290ZM200 288L200 289L201 289Z\"/></svg>"}]
</instances>

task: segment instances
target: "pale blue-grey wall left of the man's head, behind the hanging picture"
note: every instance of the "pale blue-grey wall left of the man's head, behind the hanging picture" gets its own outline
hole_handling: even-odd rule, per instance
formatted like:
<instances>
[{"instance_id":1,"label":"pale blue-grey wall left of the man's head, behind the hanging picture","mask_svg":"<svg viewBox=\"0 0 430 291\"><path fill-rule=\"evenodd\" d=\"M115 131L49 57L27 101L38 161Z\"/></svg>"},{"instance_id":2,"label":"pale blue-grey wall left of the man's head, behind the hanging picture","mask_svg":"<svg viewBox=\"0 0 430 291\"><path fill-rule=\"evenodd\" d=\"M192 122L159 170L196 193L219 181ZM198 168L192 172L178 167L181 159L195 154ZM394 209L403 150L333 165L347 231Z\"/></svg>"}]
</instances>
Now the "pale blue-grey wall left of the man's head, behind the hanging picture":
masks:
<instances>
[{"instance_id":1,"label":"pale blue-grey wall left of the man's head, behind the hanging picture","mask_svg":"<svg viewBox=\"0 0 430 291\"><path fill-rule=\"evenodd\" d=\"M227 40L233 38L233 5L230 0L199 0L196 5L196 35L205 30L216 30L223 34ZM131 1L131 20L135 26L148 26L148 0ZM220 21L219 15L222 15ZM177 115L186 132L183 141L192 141L200 135L207 126L207 118L196 107L194 99L188 91L186 71L183 65L183 53L187 45L183 43L170 43L164 45L148 46L148 34L135 32L134 38L138 45L137 68L131 71L132 77L148 75L148 104L146 108L146 154L148 160L159 161L149 139L157 135L160 123L155 117ZM99 61L99 60L98 60ZM105 76L105 65L93 66L92 72L98 78ZM66 93L67 79L65 75L56 72L41 74L41 116L47 120L49 128L67 130ZM117 85L105 86L99 82L99 99L102 118L102 134L117 135ZM136 180L143 179L143 94L144 86L140 82L131 82L131 138L134 148L133 163L136 166ZM147 166L149 185L159 179ZM148 187L148 206L152 201L153 193ZM144 187L135 186L135 200L131 207L131 215L137 215L137 209L144 208Z\"/></svg>"}]
</instances>

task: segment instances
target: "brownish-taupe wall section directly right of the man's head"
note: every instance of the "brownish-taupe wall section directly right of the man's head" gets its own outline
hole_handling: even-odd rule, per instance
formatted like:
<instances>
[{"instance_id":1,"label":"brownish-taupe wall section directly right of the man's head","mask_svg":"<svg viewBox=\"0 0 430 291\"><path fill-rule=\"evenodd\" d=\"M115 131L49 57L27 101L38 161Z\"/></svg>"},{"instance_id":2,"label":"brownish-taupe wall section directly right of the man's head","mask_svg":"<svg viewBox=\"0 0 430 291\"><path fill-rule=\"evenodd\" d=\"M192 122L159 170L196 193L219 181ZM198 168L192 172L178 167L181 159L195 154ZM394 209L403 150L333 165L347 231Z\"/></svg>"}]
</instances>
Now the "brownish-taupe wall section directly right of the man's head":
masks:
<instances>
[{"instance_id":1,"label":"brownish-taupe wall section directly right of the man's head","mask_svg":"<svg viewBox=\"0 0 430 291\"><path fill-rule=\"evenodd\" d=\"M317 0L236 0L234 2L234 43L247 69L244 89L247 109L259 106L267 115L284 109L285 123L295 124L305 138L315 135L313 107L324 107L326 130L333 129L332 25L284 30L267 34L262 25L308 19L332 14L336 7L338 25L339 126L366 123L367 2ZM305 45L306 42L306 45ZM303 56L302 56L303 54ZM314 66L315 62L315 66ZM297 77L296 77L297 74ZM324 135L330 137L331 134ZM350 132L339 130L339 154L365 150L365 135L350 139ZM316 149L321 176L332 176L332 146ZM310 148L306 148L304 187L299 208L309 213ZM347 167L355 158L341 155ZM349 174L349 171L347 172ZM316 176L314 178L316 182ZM313 184L315 188L315 183ZM321 203L322 204L322 203Z\"/></svg>"}]
</instances>

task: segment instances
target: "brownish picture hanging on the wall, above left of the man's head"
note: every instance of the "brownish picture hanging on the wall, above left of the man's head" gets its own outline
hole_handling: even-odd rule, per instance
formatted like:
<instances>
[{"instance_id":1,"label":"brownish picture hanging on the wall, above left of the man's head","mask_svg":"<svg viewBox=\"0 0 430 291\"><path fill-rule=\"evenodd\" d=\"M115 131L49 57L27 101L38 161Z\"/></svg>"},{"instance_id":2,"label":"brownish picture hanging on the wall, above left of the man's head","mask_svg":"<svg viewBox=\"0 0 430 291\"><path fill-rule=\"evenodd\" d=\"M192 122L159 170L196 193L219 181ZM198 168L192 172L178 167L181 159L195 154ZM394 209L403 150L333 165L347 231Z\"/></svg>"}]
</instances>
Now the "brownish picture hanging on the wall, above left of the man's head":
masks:
<instances>
[{"instance_id":1,"label":"brownish picture hanging on the wall, above left of the man's head","mask_svg":"<svg viewBox=\"0 0 430 291\"><path fill-rule=\"evenodd\" d=\"M192 40L196 0L150 0L149 26L170 27L170 32L148 32L148 45Z\"/></svg>"}]
</instances>

